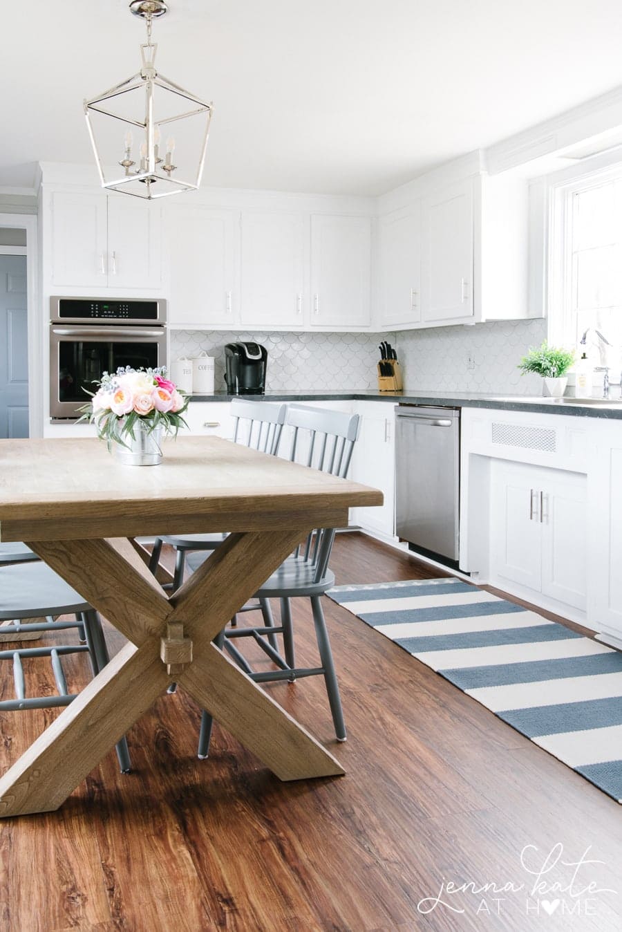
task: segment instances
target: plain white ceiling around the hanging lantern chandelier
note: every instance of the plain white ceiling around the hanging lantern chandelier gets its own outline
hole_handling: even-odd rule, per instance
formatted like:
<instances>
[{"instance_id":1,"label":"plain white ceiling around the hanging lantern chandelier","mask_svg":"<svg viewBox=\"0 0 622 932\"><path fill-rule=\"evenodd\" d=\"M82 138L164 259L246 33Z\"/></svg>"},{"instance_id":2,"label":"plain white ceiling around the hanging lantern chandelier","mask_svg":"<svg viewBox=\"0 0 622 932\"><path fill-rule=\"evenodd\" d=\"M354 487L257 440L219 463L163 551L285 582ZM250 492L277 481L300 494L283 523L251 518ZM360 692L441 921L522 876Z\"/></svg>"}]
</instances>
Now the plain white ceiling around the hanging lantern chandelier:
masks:
<instances>
[{"instance_id":1,"label":"plain white ceiling around the hanging lantern chandelier","mask_svg":"<svg viewBox=\"0 0 622 932\"><path fill-rule=\"evenodd\" d=\"M0 186L92 161L139 70L128 0L3 4ZM619 0L169 0L164 75L214 102L203 184L375 195L622 84Z\"/></svg>"}]
</instances>

